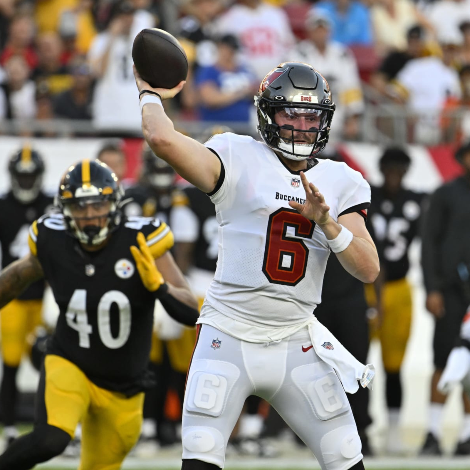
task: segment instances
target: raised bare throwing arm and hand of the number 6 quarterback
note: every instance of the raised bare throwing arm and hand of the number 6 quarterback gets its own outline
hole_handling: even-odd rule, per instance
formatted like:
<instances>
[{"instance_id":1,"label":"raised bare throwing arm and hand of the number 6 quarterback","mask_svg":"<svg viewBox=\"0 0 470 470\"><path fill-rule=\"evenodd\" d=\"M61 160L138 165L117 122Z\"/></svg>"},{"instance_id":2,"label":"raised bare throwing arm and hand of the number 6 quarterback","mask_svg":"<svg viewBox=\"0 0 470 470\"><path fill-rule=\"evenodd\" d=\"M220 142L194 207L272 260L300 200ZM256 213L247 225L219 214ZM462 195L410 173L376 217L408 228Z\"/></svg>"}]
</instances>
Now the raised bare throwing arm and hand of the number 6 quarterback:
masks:
<instances>
[{"instance_id":1,"label":"raised bare throwing arm and hand of the number 6 quarterback","mask_svg":"<svg viewBox=\"0 0 470 470\"><path fill-rule=\"evenodd\" d=\"M139 92L150 90L158 93L162 100L176 96L185 82L168 90L152 88L142 80L134 67L135 83ZM142 94L141 98L146 96ZM200 142L175 130L162 106L156 103L146 104L142 109L142 132L154 153L168 162L185 180L194 184L205 193L210 193L220 176L220 160L211 150Z\"/></svg>"}]
</instances>

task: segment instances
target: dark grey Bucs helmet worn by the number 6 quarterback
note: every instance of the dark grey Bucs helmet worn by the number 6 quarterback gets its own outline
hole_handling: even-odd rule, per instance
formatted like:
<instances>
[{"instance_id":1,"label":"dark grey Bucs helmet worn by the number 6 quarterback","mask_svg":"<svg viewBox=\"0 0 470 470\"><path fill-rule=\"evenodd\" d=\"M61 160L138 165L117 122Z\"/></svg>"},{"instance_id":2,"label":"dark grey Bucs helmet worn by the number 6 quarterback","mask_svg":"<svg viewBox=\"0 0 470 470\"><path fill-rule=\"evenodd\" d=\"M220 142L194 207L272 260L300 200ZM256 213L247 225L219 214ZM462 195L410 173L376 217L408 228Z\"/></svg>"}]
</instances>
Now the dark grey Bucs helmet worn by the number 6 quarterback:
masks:
<instances>
[{"instance_id":1,"label":"dark grey Bucs helmet worn by the number 6 quarterback","mask_svg":"<svg viewBox=\"0 0 470 470\"><path fill-rule=\"evenodd\" d=\"M273 150L291 160L305 160L320 153L328 142L335 104L328 82L311 65L303 62L284 62L270 71L255 96L258 114L258 132ZM275 114L285 111L287 116L311 115L316 124L310 129L296 129L292 125L278 125ZM283 136L280 130L286 130ZM298 142L301 133L313 134L305 142ZM287 137L286 137L287 135ZM296 137L296 138L294 138ZM296 142L297 140L297 142ZM308 141L308 143L307 143Z\"/></svg>"}]
</instances>

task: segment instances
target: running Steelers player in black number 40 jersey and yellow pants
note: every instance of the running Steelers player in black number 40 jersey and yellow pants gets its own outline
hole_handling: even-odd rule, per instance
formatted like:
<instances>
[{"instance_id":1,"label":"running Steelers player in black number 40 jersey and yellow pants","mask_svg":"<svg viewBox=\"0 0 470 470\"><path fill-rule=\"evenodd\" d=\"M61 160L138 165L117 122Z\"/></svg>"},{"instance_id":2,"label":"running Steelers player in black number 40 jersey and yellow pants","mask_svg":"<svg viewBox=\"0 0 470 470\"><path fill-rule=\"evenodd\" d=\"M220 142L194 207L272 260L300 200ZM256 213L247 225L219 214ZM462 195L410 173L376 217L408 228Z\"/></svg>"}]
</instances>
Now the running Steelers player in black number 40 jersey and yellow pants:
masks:
<instances>
[{"instance_id":1,"label":"running Steelers player in black number 40 jersey and yellow pants","mask_svg":"<svg viewBox=\"0 0 470 470\"><path fill-rule=\"evenodd\" d=\"M82 423L81 470L117 470L139 437L153 309L158 298L194 325L197 302L168 251L158 219L121 217L122 189L108 166L82 160L64 174L60 214L29 231L30 253L0 273L0 306L31 282L50 284L60 314L39 379L35 425L0 456L30 469L61 454ZM136 246L137 245L137 246Z\"/></svg>"}]
</instances>

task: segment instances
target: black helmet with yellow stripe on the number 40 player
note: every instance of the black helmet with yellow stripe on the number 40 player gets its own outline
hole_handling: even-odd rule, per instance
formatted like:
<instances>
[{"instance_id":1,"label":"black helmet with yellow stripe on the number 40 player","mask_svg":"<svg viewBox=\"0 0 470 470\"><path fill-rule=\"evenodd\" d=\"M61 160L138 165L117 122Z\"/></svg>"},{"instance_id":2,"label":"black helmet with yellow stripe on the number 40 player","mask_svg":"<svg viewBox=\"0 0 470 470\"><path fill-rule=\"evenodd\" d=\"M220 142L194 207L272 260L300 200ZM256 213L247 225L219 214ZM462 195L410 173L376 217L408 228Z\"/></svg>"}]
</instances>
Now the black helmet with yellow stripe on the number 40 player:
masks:
<instances>
[{"instance_id":1,"label":"black helmet with yellow stripe on the number 40 player","mask_svg":"<svg viewBox=\"0 0 470 470\"><path fill-rule=\"evenodd\" d=\"M120 201L123 189L118 177L107 164L100 160L82 160L72 165L62 177L57 195L57 205L61 209L67 229L80 243L99 245L115 230L121 221ZM110 211L102 217L106 222L101 225L87 225L80 229L77 217L72 215L72 208L85 207L110 201ZM83 219L97 219L97 217Z\"/></svg>"}]
</instances>

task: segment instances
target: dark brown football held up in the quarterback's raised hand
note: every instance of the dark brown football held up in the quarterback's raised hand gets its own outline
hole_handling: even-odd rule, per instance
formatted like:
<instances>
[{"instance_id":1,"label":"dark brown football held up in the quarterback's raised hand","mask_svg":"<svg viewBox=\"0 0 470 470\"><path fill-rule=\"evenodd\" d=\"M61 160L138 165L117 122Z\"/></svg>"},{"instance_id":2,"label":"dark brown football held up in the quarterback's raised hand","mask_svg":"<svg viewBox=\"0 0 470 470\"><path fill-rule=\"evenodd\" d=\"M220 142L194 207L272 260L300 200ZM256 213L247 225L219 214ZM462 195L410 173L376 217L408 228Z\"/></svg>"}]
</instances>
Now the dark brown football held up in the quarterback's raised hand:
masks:
<instances>
[{"instance_id":1,"label":"dark brown football held up in the quarterback's raised hand","mask_svg":"<svg viewBox=\"0 0 470 470\"><path fill-rule=\"evenodd\" d=\"M188 75L188 57L169 32L143 29L134 39L132 58L139 75L153 88L173 88Z\"/></svg>"}]
</instances>

